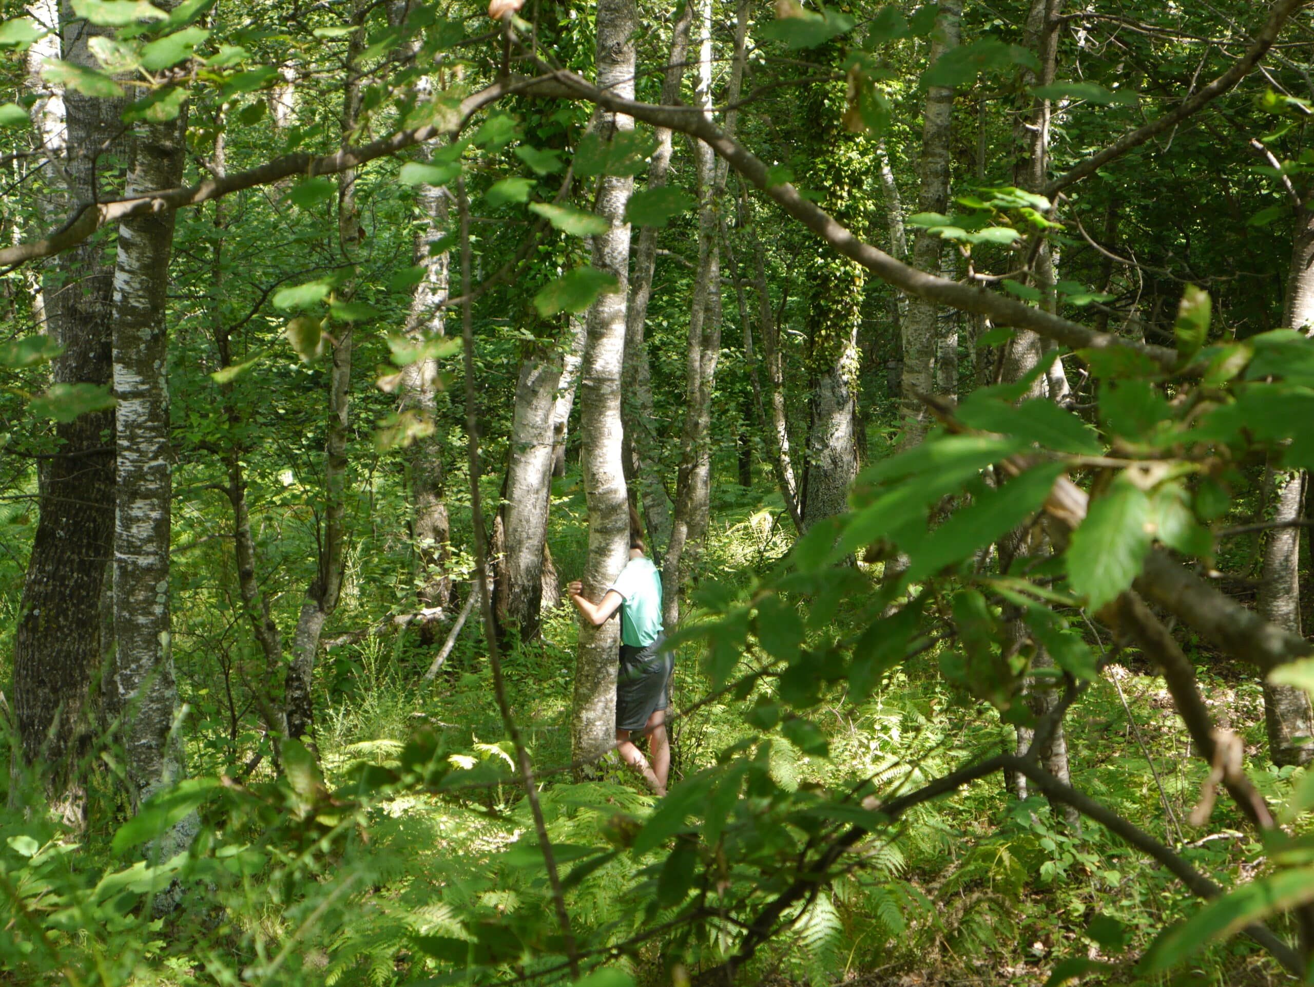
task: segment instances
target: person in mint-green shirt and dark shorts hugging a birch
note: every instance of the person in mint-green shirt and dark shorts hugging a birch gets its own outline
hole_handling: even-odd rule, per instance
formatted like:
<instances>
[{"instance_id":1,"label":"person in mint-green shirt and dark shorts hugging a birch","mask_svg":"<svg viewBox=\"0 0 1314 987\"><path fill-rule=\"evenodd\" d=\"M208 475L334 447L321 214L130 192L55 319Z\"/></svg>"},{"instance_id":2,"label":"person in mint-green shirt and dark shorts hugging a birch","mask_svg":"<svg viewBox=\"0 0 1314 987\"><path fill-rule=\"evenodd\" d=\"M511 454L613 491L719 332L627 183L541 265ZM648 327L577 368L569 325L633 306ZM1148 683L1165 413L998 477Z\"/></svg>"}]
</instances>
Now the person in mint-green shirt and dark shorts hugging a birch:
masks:
<instances>
[{"instance_id":1,"label":"person in mint-green shirt and dark shorts hugging a birch","mask_svg":"<svg viewBox=\"0 0 1314 987\"><path fill-rule=\"evenodd\" d=\"M620 668L616 673L616 750L637 769L658 795L666 794L670 777L670 737L666 707L674 657L662 649L661 573L648 557L639 516L629 509L629 561L594 603L583 595L578 580L566 586L570 602L594 627L620 612ZM652 764L635 746L631 735L648 737Z\"/></svg>"}]
</instances>

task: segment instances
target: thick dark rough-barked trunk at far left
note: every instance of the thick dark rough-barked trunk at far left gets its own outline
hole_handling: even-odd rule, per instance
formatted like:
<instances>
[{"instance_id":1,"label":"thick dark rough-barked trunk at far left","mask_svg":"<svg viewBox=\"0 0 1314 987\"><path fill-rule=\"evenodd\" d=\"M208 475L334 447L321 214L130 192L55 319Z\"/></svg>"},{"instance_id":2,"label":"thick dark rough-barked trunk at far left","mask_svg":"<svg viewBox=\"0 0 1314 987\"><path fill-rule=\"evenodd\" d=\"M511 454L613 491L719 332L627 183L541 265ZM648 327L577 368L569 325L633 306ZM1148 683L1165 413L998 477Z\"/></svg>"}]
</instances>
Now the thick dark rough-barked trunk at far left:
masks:
<instances>
[{"instance_id":1,"label":"thick dark rough-barked trunk at far left","mask_svg":"<svg viewBox=\"0 0 1314 987\"><path fill-rule=\"evenodd\" d=\"M95 64L87 49L95 33L79 21L66 58ZM46 116L59 105L66 114L63 126L50 125L43 131L47 142L54 133L66 134L64 192L70 202L87 201L93 197L93 159L100 149L113 146L121 131L124 100L70 91L62 104L46 100L41 112ZM100 181L114 184L112 177L106 181L104 168ZM58 255L45 279L46 333L64 347L54 361L54 382L108 385L113 375L114 272L104 263L104 244L93 241ZM21 752L28 764L47 764L47 790L74 824L83 819L83 790L74 762L97 719L92 682L101 666L100 603L114 532L114 449L105 436L113 430L113 411L93 411L55 426L58 455L37 474L39 519L14 633L14 756ZM17 795L18 787L11 792Z\"/></svg>"}]
</instances>

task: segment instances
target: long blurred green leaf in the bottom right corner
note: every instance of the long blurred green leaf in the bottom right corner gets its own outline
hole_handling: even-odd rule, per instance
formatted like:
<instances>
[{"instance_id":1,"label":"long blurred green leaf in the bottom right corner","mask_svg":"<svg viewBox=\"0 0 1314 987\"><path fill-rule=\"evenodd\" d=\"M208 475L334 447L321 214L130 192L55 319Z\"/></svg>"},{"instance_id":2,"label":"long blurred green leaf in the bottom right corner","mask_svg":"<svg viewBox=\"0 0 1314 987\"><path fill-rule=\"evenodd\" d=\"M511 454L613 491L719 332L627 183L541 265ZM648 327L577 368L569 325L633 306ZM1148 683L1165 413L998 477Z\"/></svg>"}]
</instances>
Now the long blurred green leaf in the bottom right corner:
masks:
<instances>
[{"instance_id":1,"label":"long blurred green leaf in the bottom right corner","mask_svg":"<svg viewBox=\"0 0 1314 987\"><path fill-rule=\"evenodd\" d=\"M1155 975L1189 959L1205 946L1230 938L1251 923L1314 902L1314 867L1292 867L1242 884L1205 904L1187 921L1164 932L1137 971Z\"/></svg>"}]
</instances>

